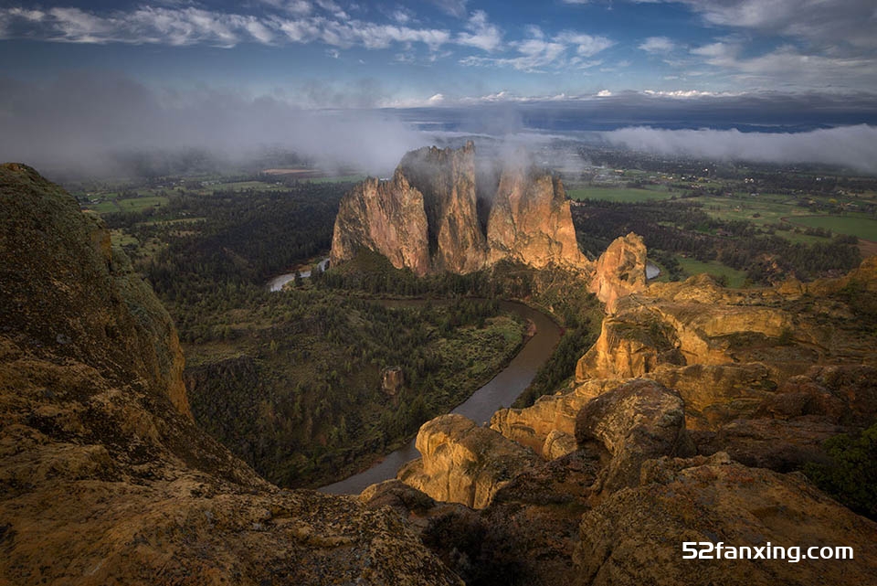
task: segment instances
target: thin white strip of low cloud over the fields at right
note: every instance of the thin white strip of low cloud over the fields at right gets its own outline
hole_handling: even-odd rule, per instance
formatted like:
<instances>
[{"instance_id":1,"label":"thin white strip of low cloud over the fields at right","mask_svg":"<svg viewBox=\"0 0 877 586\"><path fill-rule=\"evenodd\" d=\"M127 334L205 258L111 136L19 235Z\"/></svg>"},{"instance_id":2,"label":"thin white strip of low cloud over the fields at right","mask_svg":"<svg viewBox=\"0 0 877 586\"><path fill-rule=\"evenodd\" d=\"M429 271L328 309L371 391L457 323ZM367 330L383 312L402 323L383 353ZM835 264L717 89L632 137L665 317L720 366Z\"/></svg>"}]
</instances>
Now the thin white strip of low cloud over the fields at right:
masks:
<instances>
[{"instance_id":1,"label":"thin white strip of low cloud over the fields at right","mask_svg":"<svg viewBox=\"0 0 877 586\"><path fill-rule=\"evenodd\" d=\"M807 133L741 133L732 130L623 128L610 143L654 154L721 161L817 163L877 173L877 126L859 124Z\"/></svg>"}]
</instances>

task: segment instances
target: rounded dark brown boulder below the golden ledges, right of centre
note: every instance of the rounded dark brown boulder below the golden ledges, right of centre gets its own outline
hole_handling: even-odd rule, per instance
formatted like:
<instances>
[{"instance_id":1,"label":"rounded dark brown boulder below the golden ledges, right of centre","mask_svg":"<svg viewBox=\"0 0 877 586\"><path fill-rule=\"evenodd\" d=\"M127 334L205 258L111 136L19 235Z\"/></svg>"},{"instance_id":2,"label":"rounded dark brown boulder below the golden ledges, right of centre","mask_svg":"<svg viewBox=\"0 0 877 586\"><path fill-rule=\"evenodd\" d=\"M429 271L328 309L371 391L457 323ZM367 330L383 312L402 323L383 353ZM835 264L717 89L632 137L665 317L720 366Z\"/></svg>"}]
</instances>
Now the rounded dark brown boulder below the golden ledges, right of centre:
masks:
<instances>
[{"instance_id":1,"label":"rounded dark brown boulder below the golden ledges, right of centre","mask_svg":"<svg viewBox=\"0 0 877 586\"><path fill-rule=\"evenodd\" d=\"M576 418L576 443L608 455L598 491L639 485L650 458L693 455L682 397L651 380L633 380L589 401Z\"/></svg>"}]
</instances>

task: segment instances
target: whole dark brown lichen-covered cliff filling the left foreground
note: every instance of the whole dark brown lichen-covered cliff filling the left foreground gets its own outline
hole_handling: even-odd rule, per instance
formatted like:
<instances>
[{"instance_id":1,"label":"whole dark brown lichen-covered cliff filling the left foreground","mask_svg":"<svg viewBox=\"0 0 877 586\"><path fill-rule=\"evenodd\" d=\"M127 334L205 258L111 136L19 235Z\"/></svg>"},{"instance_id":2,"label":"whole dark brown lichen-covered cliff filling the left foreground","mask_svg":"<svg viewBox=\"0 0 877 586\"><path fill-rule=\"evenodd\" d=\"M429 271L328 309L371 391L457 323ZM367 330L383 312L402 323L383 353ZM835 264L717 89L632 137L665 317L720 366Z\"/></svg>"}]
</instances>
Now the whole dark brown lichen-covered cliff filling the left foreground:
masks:
<instances>
[{"instance_id":1,"label":"whole dark brown lichen-covered cliff filling the left foreground","mask_svg":"<svg viewBox=\"0 0 877 586\"><path fill-rule=\"evenodd\" d=\"M173 324L72 197L2 165L0 210L0 583L460 583L395 514L195 428Z\"/></svg>"}]
</instances>

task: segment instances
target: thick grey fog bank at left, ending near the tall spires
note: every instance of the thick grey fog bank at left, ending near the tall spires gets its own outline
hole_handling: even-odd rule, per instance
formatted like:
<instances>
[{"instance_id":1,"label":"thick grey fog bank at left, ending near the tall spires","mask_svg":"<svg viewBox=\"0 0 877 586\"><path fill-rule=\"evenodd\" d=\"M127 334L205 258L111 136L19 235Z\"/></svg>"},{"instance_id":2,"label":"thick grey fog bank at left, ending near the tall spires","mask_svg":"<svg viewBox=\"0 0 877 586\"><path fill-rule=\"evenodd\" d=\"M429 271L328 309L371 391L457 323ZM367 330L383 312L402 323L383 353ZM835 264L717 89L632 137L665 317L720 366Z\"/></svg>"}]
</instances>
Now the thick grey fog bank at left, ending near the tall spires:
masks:
<instances>
[{"instance_id":1,"label":"thick grey fog bank at left, ending near the tall spires","mask_svg":"<svg viewBox=\"0 0 877 586\"><path fill-rule=\"evenodd\" d=\"M375 80L310 91L322 103L375 106ZM306 92L307 89L302 89ZM153 91L129 78L79 71L45 83L0 80L0 161L49 172L125 173L121 154L209 151L236 161L284 148L319 165L392 169L422 137L375 110L308 111L269 96L234 91Z\"/></svg>"}]
</instances>

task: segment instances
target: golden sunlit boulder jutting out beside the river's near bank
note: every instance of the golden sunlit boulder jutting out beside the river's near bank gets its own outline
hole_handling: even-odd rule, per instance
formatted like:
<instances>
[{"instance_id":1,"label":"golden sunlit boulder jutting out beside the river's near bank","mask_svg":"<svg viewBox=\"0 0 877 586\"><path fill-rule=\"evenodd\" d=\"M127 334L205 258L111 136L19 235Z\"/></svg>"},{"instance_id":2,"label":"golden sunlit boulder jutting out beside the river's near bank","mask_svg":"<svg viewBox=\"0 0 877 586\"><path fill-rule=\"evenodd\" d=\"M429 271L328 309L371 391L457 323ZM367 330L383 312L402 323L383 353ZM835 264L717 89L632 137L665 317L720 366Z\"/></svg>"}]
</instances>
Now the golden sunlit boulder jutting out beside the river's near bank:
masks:
<instances>
[{"instance_id":1,"label":"golden sunlit boulder jutting out beside the river's near bank","mask_svg":"<svg viewBox=\"0 0 877 586\"><path fill-rule=\"evenodd\" d=\"M427 421L417 432L421 458L396 477L440 501L488 506L515 474L538 463L532 451L462 415Z\"/></svg>"}]
</instances>

